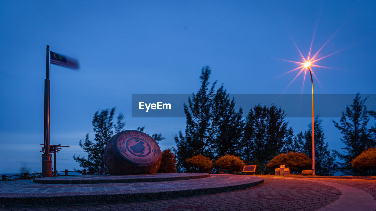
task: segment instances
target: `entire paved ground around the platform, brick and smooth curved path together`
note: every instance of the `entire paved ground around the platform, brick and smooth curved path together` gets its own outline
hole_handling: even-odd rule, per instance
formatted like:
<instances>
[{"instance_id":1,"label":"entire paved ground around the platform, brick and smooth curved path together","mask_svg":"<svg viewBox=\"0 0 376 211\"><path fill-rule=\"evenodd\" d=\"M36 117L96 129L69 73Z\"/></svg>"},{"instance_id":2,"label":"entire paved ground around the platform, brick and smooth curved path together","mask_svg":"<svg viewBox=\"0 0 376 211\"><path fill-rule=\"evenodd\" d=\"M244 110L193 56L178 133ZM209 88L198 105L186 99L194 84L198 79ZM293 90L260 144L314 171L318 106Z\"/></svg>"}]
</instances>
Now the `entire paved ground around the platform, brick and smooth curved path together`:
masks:
<instances>
[{"instance_id":1,"label":"entire paved ground around the platform, brick and smooth curved path together","mask_svg":"<svg viewBox=\"0 0 376 211\"><path fill-rule=\"evenodd\" d=\"M215 176L215 175L212 175ZM235 175L236 176L236 175ZM254 177L254 176L250 176ZM8 206L1 210L376 210L376 180L261 176L243 190L174 199L59 206ZM208 178L204 178L208 179ZM217 177L217 179L220 179ZM190 182L200 179L192 179ZM172 181L177 182L177 181ZM182 181L180 181L182 182ZM217 182L221 182L220 180ZM36 184L43 185L43 184ZM77 184L74 184L77 185ZM79 184L84 185L84 184ZM134 184L135 185L135 184ZM77 187L78 188L78 187ZM161 187L163 188L163 187Z\"/></svg>"}]
</instances>

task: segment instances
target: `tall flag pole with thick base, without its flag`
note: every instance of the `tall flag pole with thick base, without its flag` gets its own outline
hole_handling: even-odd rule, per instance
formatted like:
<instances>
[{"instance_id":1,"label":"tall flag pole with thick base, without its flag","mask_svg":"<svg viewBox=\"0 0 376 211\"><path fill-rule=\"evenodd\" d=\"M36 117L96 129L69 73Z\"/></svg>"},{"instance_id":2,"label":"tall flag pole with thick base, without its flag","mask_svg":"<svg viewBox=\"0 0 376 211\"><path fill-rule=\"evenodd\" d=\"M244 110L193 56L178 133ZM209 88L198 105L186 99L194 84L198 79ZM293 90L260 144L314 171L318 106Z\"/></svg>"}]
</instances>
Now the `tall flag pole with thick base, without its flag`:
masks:
<instances>
[{"instance_id":1,"label":"tall flag pole with thick base, without its flag","mask_svg":"<svg viewBox=\"0 0 376 211\"><path fill-rule=\"evenodd\" d=\"M50 154L50 46L46 48L46 78L44 79L44 150L42 154L42 176L52 176Z\"/></svg>"}]
</instances>

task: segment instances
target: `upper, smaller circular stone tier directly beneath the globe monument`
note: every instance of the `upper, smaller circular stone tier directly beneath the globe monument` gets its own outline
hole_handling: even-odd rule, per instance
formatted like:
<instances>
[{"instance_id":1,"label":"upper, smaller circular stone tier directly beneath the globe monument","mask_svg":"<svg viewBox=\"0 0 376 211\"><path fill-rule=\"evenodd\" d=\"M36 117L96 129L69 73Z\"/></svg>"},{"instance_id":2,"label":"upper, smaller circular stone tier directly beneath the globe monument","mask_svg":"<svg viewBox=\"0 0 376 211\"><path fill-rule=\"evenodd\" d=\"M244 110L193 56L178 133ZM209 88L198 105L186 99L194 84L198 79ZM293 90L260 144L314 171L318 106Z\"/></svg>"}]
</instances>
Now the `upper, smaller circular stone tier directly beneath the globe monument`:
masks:
<instances>
[{"instance_id":1,"label":"upper, smaller circular stone tier directly beneath the globe monument","mask_svg":"<svg viewBox=\"0 0 376 211\"><path fill-rule=\"evenodd\" d=\"M77 175L36 178L35 183L44 184L97 184L97 183L128 183L158 182L210 177L208 173L156 173L145 175Z\"/></svg>"}]
</instances>

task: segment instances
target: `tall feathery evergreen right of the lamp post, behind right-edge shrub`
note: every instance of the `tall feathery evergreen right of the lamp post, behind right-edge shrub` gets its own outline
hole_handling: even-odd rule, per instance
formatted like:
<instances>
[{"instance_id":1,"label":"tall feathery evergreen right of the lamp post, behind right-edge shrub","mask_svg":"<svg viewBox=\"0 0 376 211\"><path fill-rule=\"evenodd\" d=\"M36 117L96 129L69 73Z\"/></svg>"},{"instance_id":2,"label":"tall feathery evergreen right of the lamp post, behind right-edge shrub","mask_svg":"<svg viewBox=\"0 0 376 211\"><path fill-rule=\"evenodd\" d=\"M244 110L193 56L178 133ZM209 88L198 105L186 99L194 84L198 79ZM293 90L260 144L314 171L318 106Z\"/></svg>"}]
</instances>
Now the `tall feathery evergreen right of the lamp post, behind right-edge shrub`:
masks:
<instances>
[{"instance_id":1,"label":"tall feathery evergreen right of the lamp post, behind right-edge shrub","mask_svg":"<svg viewBox=\"0 0 376 211\"><path fill-rule=\"evenodd\" d=\"M365 99L361 99L359 93L353 99L353 103L346 106L346 112L342 112L340 123L333 120L334 127L343 134L341 141L345 144L343 153L334 151L344 162L340 165L343 175L360 175L361 171L352 167L350 162L367 147L375 146L375 140L371 139L370 131L367 129L368 117Z\"/></svg>"}]
</instances>

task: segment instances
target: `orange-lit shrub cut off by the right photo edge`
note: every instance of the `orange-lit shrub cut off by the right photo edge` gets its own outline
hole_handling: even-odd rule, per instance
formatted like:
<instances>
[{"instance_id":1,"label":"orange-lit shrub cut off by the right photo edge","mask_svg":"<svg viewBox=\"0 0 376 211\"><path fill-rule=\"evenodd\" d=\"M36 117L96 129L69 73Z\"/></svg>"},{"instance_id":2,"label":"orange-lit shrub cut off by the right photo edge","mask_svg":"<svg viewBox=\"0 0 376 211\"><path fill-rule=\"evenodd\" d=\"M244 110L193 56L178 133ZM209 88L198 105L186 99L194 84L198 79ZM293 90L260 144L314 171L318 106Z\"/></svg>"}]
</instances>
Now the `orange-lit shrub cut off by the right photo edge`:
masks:
<instances>
[{"instance_id":1,"label":"orange-lit shrub cut off by the right photo edge","mask_svg":"<svg viewBox=\"0 0 376 211\"><path fill-rule=\"evenodd\" d=\"M365 149L360 155L350 162L353 167L364 171L376 169L376 148Z\"/></svg>"}]
</instances>

